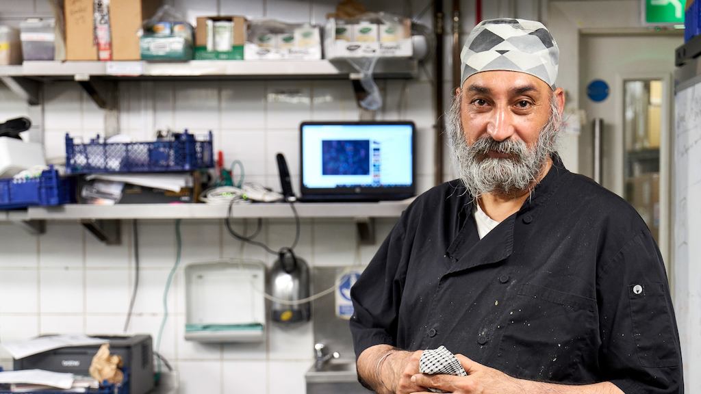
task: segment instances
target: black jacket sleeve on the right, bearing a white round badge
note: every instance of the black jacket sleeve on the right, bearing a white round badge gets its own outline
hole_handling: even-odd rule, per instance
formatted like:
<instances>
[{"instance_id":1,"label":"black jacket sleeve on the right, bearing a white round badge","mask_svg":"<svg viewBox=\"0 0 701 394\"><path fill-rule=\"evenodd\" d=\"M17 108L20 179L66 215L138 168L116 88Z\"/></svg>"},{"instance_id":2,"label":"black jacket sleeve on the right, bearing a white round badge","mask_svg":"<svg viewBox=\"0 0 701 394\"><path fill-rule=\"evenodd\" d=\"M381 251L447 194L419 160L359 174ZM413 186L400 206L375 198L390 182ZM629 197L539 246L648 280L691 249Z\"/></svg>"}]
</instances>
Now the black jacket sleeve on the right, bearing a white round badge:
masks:
<instances>
[{"instance_id":1,"label":"black jacket sleeve on the right, bearing a white round badge","mask_svg":"<svg viewBox=\"0 0 701 394\"><path fill-rule=\"evenodd\" d=\"M599 367L626 394L683 393L665 265L647 229L599 267Z\"/></svg>"}]
</instances>

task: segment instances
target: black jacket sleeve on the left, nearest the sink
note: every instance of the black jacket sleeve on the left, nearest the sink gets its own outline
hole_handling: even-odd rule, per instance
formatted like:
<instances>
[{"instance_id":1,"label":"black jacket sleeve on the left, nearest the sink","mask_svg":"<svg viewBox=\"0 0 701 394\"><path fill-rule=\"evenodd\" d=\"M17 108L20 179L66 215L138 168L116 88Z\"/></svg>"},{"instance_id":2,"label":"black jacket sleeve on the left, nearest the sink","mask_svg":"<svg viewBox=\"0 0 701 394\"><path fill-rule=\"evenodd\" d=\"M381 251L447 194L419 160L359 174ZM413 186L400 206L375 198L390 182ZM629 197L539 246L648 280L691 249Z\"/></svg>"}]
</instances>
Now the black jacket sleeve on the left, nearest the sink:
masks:
<instances>
[{"instance_id":1,"label":"black jacket sleeve on the left, nearest the sink","mask_svg":"<svg viewBox=\"0 0 701 394\"><path fill-rule=\"evenodd\" d=\"M370 346L395 346L402 298L405 227L400 219L351 288L355 357Z\"/></svg>"}]
</instances>

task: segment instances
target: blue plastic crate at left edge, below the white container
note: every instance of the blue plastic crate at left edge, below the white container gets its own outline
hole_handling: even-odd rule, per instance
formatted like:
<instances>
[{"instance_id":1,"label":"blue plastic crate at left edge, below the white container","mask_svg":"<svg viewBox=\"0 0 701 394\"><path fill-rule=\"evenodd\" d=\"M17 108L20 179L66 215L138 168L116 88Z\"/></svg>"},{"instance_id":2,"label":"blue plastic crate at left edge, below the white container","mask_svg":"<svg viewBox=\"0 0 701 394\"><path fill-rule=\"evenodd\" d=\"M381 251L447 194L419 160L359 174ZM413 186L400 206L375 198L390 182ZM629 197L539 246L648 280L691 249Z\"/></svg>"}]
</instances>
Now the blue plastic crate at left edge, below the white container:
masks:
<instances>
[{"instance_id":1,"label":"blue plastic crate at left edge, below the white container","mask_svg":"<svg viewBox=\"0 0 701 394\"><path fill-rule=\"evenodd\" d=\"M37 178L0 179L0 210L32 205L61 205L74 201L74 179L61 178L53 166L49 166Z\"/></svg>"}]
</instances>

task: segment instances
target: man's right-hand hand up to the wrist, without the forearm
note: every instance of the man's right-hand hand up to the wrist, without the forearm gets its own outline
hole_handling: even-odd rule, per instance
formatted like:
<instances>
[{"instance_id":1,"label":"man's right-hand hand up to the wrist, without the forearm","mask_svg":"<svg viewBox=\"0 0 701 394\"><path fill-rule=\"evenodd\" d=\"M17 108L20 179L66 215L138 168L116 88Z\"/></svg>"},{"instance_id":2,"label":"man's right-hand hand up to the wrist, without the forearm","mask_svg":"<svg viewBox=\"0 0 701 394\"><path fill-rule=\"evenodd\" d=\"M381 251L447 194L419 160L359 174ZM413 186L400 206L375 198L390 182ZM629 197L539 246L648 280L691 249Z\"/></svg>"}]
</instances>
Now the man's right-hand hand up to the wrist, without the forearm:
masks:
<instances>
[{"instance_id":1,"label":"man's right-hand hand up to the wrist, without the forearm","mask_svg":"<svg viewBox=\"0 0 701 394\"><path fill-rule=\"evenodd\" d=\"M464 355L455 357L463 365L468 376L416 374L411 376L417 386L439 388L447 393L460 394L524 394L526 391L519 379L497 369L474 362Z\"/></svg>"}]
</instances>

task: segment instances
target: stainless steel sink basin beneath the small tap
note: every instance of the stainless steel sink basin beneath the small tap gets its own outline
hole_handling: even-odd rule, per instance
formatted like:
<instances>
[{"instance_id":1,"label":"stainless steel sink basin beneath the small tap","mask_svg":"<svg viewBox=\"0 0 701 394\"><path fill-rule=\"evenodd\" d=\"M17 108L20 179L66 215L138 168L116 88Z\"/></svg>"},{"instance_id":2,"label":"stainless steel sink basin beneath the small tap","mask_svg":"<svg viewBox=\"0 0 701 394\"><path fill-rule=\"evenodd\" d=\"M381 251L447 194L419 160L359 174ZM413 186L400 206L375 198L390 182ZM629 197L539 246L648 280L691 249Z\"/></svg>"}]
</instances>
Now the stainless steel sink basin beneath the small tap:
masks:
<instances>
[{"instance_id":1,"label":"stainless steel sink basin beneath the small tap","mask_svg":"<svg viewBox=\"0 0 701 394\"><path fill-rule=\"evenodd\" d=\"M320 369L312 365L306 374L307 394L368 394L358 383L354 360L329 360Z\"/></svg>"}]
</instances>

